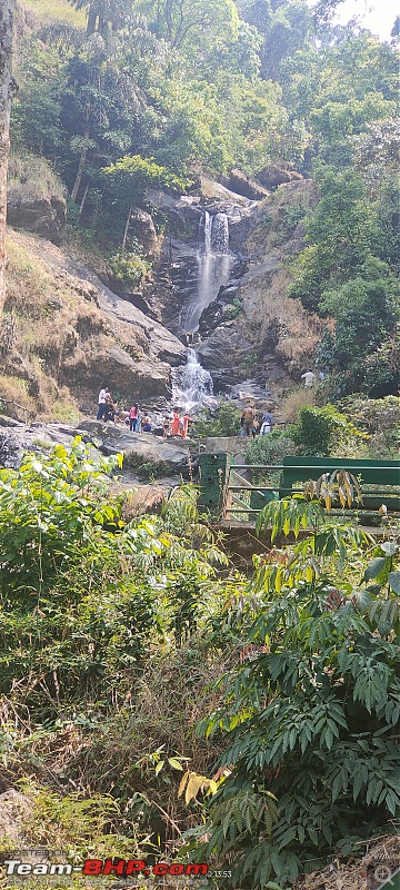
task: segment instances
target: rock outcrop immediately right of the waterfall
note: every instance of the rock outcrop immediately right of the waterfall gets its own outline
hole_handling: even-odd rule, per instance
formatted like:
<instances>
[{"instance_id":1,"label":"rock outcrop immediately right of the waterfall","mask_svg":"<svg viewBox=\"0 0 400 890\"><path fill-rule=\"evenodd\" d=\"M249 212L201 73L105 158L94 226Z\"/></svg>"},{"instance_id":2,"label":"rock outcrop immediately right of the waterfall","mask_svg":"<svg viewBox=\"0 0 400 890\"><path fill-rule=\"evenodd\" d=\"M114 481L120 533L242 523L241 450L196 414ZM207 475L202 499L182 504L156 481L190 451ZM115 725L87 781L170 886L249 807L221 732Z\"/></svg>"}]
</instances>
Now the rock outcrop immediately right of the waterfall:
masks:
<instances>
[{"instance_id":1,"label":"rock outcrop immediately right of the waterfall","mask_svg":"<svg viewBox=\"0 0 400 890\"><path fill-rule=\"evenodd\" d=\"M291 274L287 259L302 249L302 216L317 200L310 180L280 186L251 217L232 227L232 244L247 256L240 280L228 283L201 316L206 338L197 345L214 379L214 390L231 392L246 377L279 389L312 360L322 323L287 296ZM227 296L230 299L227 305ZM236 317L227 320L234 300Z\"/></svg>"}]
</instances>

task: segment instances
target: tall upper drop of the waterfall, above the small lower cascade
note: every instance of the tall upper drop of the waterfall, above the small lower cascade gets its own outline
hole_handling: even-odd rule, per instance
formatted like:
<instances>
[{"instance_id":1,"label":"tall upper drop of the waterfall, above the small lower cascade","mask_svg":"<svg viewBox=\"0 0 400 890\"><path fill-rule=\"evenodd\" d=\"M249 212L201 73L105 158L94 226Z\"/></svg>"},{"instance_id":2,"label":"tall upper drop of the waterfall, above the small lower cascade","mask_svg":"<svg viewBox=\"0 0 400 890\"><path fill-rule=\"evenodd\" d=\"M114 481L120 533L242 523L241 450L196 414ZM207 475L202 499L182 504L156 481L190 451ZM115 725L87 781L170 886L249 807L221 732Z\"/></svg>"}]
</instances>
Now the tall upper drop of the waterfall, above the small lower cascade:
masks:
<instances>
[{"instance_id":1,"label":"tall upper drop of the waterfall, above the small lower cascade","mask_svg":"<svg viewBox=\"0 0 400 890\"><path fill-rule=\"evenodd\" d=\"M193 299L182 314L182 329L196 332L203 309L216 299L221 285L226 285L233 258L229 253L229 221L227 214L203 217L204 244L198 251L198 285Z\"/></svg>"}]
</instances>

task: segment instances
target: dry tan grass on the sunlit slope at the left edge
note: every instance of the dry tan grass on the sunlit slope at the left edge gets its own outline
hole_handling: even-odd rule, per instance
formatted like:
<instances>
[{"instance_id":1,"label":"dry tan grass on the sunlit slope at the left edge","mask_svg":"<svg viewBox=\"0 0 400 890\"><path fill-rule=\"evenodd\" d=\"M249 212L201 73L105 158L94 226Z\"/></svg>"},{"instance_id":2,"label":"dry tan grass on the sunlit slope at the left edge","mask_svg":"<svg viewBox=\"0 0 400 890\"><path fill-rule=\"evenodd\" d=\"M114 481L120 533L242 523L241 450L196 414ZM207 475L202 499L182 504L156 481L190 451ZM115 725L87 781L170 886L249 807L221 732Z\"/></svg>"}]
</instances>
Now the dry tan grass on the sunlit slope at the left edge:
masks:
<instances>
[{"instance_id":1,"label":"dry tan grass on the sunlit slope at the left edge","mask_svg":"<svg viewBox=\"0 0 400 890\"><path fill-rule=\"evenodd\" d=\"M6 356L1 390L40 421L78 423L76 398L64 386L66 362L109 350L127 335L97 307L96 289L47 261L57 248L20 233L8 234L6 312L16 318L12 348Z\"/></svg>"}]
</instances>

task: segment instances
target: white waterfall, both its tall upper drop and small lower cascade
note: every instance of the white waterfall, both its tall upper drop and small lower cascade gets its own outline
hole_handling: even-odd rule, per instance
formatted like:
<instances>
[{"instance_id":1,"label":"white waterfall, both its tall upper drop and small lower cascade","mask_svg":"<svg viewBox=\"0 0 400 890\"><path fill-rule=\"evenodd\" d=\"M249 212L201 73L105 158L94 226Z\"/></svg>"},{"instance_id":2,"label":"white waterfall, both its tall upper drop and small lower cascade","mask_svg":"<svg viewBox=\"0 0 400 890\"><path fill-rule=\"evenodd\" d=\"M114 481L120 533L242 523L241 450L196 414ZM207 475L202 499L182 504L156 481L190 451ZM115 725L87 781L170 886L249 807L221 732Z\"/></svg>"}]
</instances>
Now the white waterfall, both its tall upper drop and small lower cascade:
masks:
<instances>
[{"instance_id":1,"label":"white waterfall, both its tall upper drop and small lower cascade","mask_svg":"<svg viewBox=\"0 0 400 890\"><path fill-rule=\"evenodd\" d=\"M194 299L182 317L182 328L193 334L199 327L201 313L219 294L221 285L229 280L233 257L229 253L229 220L227 214L203 218L204 245L197 256L199 276ZM211 374L201 367L194 349L188 349L187 364L172 373L173 403L186 411L200 407L212 398Z\"/></svg>"}]
</instances>

